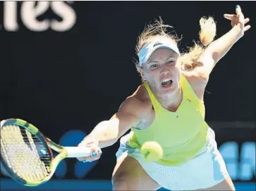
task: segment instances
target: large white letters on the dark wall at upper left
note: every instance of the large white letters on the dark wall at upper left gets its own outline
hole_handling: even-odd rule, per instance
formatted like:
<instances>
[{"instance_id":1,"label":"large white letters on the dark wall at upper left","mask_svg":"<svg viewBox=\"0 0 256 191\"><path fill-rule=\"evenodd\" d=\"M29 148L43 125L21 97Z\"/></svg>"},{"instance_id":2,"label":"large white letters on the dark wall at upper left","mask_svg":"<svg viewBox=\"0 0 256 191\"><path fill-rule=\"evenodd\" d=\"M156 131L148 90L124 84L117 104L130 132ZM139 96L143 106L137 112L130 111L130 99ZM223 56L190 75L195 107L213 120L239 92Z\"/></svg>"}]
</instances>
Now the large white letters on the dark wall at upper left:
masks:
<instances>
[{"instance_id":1,"label":"large white letters on the dark wall at upper left","mask_svg":"<svg viewBox=\"0 0 256 191\"><path fill-rule=\"evenodd\" d=\"M18 4L20 11L18 11ZM19 29L18 20L30 31L43 32L48 29L56 32L66 32L71 29L76 22L75 10L71 4L73 1L4 1L4 23L6 31L17 32ZM37 17L43 15L51 9L61 20L44 19L37 20ZM18 15L18 13L20 13Z\"/></svg>"}]
</instances>

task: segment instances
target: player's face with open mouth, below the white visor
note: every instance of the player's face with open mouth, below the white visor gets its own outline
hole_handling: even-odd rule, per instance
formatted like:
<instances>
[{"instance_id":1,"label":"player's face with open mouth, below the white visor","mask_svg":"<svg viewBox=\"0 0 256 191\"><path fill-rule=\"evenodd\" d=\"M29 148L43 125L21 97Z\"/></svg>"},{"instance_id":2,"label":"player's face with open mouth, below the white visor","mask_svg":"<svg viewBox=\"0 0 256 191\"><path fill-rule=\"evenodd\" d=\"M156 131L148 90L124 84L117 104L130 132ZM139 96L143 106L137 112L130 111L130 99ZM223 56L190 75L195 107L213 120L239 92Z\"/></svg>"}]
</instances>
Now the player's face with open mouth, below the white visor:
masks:
<instances>
[{"instance_id":1,"label":"player's face with open mouth, below the white visor","mask_svg":"<svg viewBox=\"0 0 256 191\"><path fill-rule=\"evenodd\" d=\"M170 94L180 87L181 64L178 62L178 54L168 48L154 51L142 69L154 92Z\"/></svg>"}]
</instances>

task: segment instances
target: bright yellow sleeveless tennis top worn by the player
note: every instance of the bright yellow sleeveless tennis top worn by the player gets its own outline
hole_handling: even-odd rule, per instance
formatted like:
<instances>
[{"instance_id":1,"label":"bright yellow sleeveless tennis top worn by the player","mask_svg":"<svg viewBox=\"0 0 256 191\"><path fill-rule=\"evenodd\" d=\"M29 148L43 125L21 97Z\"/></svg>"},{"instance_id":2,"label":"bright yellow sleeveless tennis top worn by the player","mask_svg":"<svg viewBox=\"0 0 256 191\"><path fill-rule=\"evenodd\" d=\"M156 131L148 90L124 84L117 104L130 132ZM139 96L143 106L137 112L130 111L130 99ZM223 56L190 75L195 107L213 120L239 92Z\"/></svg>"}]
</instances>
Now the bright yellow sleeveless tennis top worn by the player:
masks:
<instances>
[{"instance_id":1,"label":"bright yellow sleeveless tennis top worn by the player","mask_svg":"<svg viewBox=\"0 0 256 191\"><path fill-rule=\"evenodd\" d=\"M162 107L147 83L145 88L154 107L155 119L145 130L131 128L130 147L140 149L143 143L156 141L163 149L163 156L157 163L165 166L177 166L193 159L207 142L209 126L205 122L204 103L182 74L183 100L176 112Z\"/></svg>"}]
</instances>

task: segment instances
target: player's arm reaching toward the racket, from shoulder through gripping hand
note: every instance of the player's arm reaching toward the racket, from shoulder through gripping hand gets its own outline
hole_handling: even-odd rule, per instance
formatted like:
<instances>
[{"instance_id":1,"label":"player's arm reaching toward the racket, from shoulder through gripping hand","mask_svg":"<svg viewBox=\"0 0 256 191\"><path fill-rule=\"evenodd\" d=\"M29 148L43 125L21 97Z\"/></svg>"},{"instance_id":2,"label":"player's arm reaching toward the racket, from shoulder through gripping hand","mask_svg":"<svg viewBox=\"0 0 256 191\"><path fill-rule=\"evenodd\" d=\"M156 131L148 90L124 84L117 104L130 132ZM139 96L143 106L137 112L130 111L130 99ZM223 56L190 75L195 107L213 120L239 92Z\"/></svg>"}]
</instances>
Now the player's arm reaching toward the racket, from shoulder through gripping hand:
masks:
<instances>
[{"instance_id":1,"label":"player's arm reaching toward the racket, from shoulder through gripping hand","mask_svg":"<svg viewBox=\"0 0 256 191\"><path fill-rule=\"evenodd\" d=\"M141 118L142 113L147 112L147 104L142 103L134 96L131 96L123 101L119 107L118 112L111 117L111 119L102 121L92 132L86 136L79 146L91 147L91 150L97 150L97 147L109 147L114 145L118 138L123 136L132 126L136 126ZM99 159L99 153L97 157L83 157L79 158L80 161L86 160L93 161Z\"/></svg>"}]
</instances>

